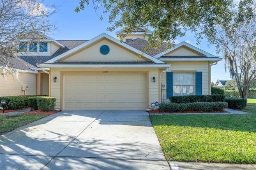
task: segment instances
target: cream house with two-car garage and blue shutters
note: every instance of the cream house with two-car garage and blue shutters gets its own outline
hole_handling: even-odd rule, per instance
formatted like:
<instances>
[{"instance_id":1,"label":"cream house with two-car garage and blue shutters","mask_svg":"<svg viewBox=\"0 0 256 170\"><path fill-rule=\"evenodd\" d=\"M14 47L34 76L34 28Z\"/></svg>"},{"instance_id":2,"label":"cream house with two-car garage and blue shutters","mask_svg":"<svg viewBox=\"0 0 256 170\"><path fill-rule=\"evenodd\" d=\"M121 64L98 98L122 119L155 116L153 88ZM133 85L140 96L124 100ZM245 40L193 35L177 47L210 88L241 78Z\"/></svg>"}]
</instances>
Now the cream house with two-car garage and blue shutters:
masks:
<instances>
[{"instance_id":1,"label":"cream house with two-car garage and blue shutters","mask_svg":"<svg viewBox=\"0 0 256 170\"><path fill-rule=\"evenodd\" d=\"M187 42L145 51L152 32L137 31L125 42L105 33L90 40L21 42L28 53L18 56L33 66L35 94L55 97L60 110L144 110L171 96L211 94L211 65L219 57Z\"/></svg>"}]
</instances>

